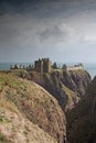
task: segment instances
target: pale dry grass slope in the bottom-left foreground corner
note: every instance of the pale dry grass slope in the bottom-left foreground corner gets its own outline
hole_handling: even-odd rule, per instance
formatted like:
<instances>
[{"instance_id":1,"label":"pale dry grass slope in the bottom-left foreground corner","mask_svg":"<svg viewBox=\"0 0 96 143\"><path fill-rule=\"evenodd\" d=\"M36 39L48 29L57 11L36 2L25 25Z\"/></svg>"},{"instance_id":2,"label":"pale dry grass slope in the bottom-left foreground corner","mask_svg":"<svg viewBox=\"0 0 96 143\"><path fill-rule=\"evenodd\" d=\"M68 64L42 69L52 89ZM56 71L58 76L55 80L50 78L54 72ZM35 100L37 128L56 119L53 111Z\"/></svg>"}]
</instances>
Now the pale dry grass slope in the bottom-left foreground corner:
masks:
<instances>
[{"instance_id":1,"label":"pale dry grass slope in the bottom-left foreground corner","mask_svg":"<svg viewBox=\"0 0 96 143\"><path fill-rule=\"evenodd\" d=\"M0 107L0 143L56 143L21 113Z\"/></svg>"}]
</instances>

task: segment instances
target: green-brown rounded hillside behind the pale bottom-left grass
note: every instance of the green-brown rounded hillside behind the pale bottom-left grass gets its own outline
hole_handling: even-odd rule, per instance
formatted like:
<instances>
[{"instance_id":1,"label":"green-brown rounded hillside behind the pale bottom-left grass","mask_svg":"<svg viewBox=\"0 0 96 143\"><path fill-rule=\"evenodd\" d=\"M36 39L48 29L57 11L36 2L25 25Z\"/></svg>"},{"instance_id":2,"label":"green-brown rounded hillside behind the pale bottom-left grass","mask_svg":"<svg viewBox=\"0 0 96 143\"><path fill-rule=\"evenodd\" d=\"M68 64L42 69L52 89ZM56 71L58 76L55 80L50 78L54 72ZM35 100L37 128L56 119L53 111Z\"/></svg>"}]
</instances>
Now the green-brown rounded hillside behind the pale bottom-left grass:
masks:
<instances>
[{"instance_id":1,"label":"green-brown rounded hillside behind the pale bottom-left grass","mask_svg":"<svg viewBox=\"0 0 96 143\"><path fill-rule=\"evenodd\" d=\"M22 114L57 141L63 142L65 134L64 114L57 101L35 82L20 79L11 74L0 73L0 107ZM45 135L43 134L43 136ZM53 142L53 139L51 141Z\"/></svg>"}]
</instances>

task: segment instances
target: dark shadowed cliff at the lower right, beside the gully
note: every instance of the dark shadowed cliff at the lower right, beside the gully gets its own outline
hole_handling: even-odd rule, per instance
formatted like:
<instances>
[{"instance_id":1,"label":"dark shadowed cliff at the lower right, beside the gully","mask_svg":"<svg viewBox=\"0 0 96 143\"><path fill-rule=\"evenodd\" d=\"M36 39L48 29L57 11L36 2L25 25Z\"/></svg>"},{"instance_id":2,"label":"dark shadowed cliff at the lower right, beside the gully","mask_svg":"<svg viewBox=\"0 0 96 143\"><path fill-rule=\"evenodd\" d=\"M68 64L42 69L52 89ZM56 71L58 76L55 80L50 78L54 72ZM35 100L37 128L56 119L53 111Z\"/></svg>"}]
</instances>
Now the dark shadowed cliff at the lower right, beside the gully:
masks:
<instances>
[{"instance_id":1,"label":"dark shadowed cliff at the lower right, beside the gully","mask_svg":"<svg viewBox=\"0 0 96 143\"><path fill-rule=\"evenodd\" d=\"M66 117L68 143L96 143L96 77L86 96Z\"/></svg>"}]
</instances>

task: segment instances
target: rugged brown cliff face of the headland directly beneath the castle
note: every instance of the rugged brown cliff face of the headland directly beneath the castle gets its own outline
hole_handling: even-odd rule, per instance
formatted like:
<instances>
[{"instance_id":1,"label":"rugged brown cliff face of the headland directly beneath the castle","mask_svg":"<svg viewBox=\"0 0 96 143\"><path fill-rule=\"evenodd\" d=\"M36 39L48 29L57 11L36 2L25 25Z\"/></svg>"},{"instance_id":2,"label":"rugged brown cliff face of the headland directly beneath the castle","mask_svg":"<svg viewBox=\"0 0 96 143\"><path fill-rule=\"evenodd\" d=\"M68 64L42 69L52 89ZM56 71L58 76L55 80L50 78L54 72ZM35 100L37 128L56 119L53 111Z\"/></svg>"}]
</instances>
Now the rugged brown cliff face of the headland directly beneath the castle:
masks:
<instances>
[{"instance_id":1,"label":"rugged brown cliff face of the headland directly beneath the castle","mask_svg":"<svg viewBox=\"0 0 96 143\"><path fill-rule=\"evenodd\" d=\"M90 76L85 70L55 70L43 75L32 73L30 79L52 94L58 100L63 110L72 109L85 95L90 82Z\"/></svg>"}]
</instances>

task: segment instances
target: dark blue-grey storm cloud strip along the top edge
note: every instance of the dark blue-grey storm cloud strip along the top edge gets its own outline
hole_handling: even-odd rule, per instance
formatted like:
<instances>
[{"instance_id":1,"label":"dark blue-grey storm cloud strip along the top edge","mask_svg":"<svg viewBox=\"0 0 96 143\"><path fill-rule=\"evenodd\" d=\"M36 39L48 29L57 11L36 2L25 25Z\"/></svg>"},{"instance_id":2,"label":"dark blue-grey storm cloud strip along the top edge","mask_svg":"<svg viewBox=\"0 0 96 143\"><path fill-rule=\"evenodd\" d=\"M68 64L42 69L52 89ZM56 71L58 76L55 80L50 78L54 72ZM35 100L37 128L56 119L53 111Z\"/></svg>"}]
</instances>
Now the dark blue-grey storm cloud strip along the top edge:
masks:
<instances>
[{"instance_id":1,"label":"dark blue-grey storm cloud strip along the top edge","mask_svg":"<svg viewBox=\"0 0 96 143\"><path fill-rule=\"evenodd\" d=\"M96 8L95 0L1 0L0 13L33 12L36 16L51 16L55 14L73 14L79 10Z\"/></svg>"}]
</instances>

